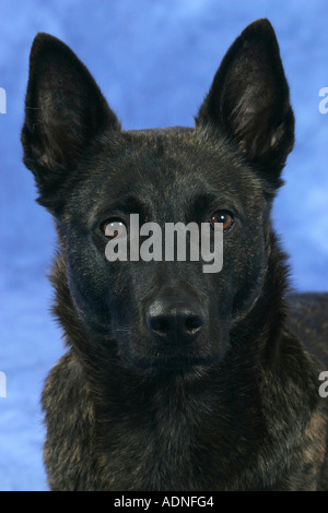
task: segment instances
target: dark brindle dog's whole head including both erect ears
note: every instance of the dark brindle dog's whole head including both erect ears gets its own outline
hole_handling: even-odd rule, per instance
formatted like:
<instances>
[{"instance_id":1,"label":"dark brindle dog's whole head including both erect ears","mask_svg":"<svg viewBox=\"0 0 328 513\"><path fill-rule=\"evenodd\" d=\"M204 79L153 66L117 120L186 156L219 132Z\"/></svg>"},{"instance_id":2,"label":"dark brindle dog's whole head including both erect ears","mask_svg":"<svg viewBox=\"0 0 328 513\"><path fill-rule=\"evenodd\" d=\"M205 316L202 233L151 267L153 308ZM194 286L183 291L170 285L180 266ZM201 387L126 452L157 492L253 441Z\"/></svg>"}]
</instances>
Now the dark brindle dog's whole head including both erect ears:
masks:
<instances>
[{"instance_id":1,"label":"dark brindle dog's whole head including both erect ears","mask_svg":"<svg viewBox=\"0 0 328 513\"><path fill-rule=\"evenodd\" d=\"M56 217L75 309L86 327L117 341L125 365L185 368L224 358L232 327L263 284L270 204L293 126L267 21L231 47L192 129L122 131L71 50L36 37L24 162ZM167 223L220 226L222 270L204 273L204 262L190 258L109 262L105 250L119 227L130 248L130 214L163 234Z\"/></svg>"}]
</instances>

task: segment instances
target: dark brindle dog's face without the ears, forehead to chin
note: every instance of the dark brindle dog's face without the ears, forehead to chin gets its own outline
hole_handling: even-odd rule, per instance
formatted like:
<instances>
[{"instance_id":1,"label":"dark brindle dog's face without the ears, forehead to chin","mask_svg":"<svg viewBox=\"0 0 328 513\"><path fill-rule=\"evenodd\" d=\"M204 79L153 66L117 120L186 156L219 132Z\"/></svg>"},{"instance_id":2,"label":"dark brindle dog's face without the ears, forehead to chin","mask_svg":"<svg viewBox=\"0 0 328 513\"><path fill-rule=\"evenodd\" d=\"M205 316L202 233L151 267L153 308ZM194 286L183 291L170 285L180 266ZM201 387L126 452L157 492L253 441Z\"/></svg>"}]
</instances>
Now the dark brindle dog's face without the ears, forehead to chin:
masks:
<instances>
[{"instance_id":1,"label":"dark brindle dog's face without the ears, forehead to chin","mask_svg":"<svg viewBox=\"0 0 328 513\"><path fill-rule=\"evenodd\" d=\"M157 365L159 358L166 366L214 362L226 349L232 322L261 287L268 220L261 182L224 145L213 154L194 130L119 139L117 158L106 145L95 152L60 216L73 299L86 322L92 317L110 329L133 365ZM222 270L203 273L202 260L108 262L110 224L124 225L129 242L131 213L140 226L157 223L163 235L166 223L201 226L225 215Z\"/></svg>"}]
</instances>

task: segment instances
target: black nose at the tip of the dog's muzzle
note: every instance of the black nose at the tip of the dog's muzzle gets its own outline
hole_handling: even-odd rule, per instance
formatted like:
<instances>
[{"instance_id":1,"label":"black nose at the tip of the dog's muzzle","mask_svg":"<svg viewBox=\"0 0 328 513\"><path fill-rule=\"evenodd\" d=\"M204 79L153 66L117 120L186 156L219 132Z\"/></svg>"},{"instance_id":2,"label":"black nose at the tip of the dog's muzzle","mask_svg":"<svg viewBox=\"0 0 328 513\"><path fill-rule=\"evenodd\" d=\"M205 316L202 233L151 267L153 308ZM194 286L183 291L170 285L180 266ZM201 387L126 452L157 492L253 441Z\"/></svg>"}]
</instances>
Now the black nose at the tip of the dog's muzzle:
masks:
<instances>
[{"instance_id":1,"label":"black nose at the tip of the dog's muzzle","mask_svg":"<svg viewBox=\"0 0 328 513\"><path fill-rule=\"evenodd\" d=\"M201 332L204 312L196 301L156 299L149 306L145 320L160 342L189 344Z\"/></svg>"}]
</instances>

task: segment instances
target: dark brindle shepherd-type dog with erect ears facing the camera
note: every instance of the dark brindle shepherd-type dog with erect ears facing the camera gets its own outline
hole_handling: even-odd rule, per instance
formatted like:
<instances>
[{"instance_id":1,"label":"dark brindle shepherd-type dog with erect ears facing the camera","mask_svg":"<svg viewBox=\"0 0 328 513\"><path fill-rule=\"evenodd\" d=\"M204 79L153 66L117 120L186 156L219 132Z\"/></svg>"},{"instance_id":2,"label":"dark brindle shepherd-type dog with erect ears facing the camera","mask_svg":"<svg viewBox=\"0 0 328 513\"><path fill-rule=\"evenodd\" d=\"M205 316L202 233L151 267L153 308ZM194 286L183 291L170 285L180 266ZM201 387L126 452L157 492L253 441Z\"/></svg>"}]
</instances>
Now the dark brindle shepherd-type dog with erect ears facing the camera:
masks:
<instances>
[{"instance_id":1,"label":"dark brindle shepherd-type dog with erect ears facing the camera","mask_svg":"<svg viewBox=\"0 0 328 513\"><path fill-rule=\"evenodd\" d=\"M266 19L230 47L194 128L122 130L78 57L36 36L22 144L58 231L67 345L43 392L51 490L328 489L328 295L291 291L270 222L293 143ZM131 214L221 229L221 271L109 261Z\"/></svg>"}]
</instances>

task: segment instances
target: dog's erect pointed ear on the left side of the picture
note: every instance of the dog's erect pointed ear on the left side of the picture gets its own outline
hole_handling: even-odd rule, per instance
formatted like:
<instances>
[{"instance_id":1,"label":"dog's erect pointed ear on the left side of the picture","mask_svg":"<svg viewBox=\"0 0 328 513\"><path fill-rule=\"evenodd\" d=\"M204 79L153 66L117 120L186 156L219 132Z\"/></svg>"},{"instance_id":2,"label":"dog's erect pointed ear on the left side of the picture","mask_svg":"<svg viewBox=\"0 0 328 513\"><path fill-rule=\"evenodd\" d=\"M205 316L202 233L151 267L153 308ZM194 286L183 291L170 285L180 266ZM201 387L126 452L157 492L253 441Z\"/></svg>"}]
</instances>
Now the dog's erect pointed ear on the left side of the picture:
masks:
<instances>
[{"instance_id":1,"label":"dog's erect pointed ear on the left side of the picture","mask_svg":"<svg viewBox=\"0 0 328 513\"><path fill-rule=\"evenodd\" d=\"M119 130L90 72L56 37L38 34L30 57L22 130L24 164L35 176L46 206L57 184L104 130Z\"/></svg>"}]
</instances>

